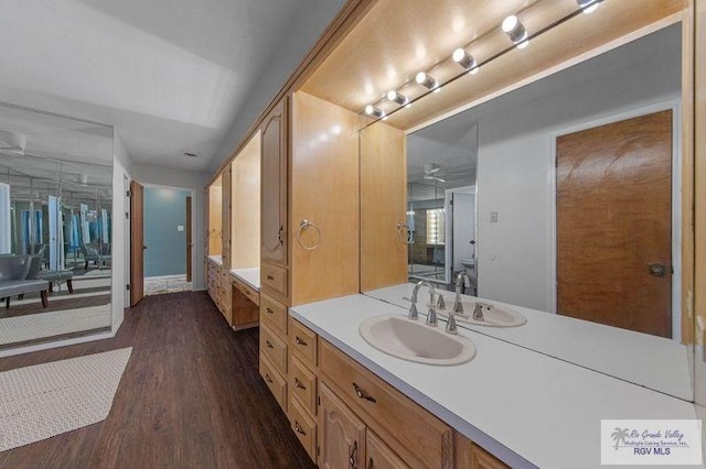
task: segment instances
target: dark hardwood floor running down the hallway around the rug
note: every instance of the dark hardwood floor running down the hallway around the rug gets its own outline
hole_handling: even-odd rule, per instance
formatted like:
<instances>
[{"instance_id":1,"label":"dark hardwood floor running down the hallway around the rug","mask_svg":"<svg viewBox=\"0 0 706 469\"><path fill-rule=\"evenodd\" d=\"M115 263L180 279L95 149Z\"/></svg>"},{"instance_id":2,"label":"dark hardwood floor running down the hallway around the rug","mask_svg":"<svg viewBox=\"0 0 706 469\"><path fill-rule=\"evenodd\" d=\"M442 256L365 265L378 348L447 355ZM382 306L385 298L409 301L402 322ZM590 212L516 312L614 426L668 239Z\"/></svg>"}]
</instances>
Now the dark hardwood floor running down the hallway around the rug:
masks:
<instances>
[{"instance_id":1,"label":"dark hardwood floor running down the hallway around the rug","mask_svg":"<svg viewBox=\"0 0 706 469\"><path fill-rule=\"evenodd\" d=\"M0 468L314 467L258 374L258 329L204 292L146 297L115 338L0 359L0 371L132 347L104 422L0 452Z\"/></svg>"}]
</instances>

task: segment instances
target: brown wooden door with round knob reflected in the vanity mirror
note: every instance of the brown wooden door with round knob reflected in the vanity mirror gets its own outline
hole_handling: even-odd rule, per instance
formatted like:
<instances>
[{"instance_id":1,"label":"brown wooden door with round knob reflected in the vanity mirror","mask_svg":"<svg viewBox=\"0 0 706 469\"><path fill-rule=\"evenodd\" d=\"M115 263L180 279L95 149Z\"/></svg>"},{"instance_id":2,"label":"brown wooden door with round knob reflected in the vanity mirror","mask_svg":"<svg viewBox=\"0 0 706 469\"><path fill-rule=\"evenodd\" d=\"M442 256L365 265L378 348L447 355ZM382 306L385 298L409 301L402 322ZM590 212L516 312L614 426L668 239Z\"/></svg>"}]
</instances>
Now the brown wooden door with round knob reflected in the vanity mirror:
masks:
<instances>
[{"instance_id":1,"label":"brown wooden door with round knob reflected in the vanity mirror","mask_svg":"<svg viewBox=\"0 0 706 469\"><path fill-rule=\"evenodd\" d=\"M557 139L557 312L672 337L672 111Z\"/></svg>"}]
</instances>

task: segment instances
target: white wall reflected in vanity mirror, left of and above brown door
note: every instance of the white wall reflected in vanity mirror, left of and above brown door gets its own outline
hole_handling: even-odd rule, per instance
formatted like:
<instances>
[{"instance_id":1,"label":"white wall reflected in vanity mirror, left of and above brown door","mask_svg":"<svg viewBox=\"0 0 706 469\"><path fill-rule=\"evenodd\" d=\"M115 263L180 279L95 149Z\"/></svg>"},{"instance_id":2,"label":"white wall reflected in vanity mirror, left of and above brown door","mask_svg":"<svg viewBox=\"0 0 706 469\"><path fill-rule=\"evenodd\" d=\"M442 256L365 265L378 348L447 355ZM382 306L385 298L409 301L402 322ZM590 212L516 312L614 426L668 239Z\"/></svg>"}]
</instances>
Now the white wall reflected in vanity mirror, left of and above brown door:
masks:
<instances>
[{"instance_id":1,"label":"white wall reflected in vanity mirror, left of and above brown door","mask_svg":"<svg viewBox=\"0 0 706 469\"><path fill-rule=\"evenodd\" d=\"M648 41L629 61L614 55L599 70L581 64L475 111L479 296L552 309L552 134L680 98L680 30L661 35L667 41Z\"/></svg>"}]
</instances>

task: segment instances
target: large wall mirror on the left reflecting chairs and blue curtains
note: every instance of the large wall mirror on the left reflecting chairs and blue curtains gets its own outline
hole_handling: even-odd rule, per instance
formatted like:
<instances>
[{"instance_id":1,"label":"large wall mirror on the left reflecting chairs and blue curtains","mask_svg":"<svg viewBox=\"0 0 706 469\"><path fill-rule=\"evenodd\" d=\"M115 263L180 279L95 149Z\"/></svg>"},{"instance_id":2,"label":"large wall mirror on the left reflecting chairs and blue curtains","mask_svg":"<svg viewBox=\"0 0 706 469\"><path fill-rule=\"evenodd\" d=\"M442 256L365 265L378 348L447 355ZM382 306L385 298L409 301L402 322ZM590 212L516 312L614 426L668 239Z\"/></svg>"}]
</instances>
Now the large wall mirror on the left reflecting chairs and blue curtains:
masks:
<instances>
[{"instance_id":1,"label":"large wall mirror on the left reflecting chairs and blue curtains","mask_svg":"<svg viewBox=\"0 0 706 469\"><path fill-rule=\"evenodd\" d=\"M0 350L110 330L113 128L0 106Z\"/></svg>"}]
</instances>

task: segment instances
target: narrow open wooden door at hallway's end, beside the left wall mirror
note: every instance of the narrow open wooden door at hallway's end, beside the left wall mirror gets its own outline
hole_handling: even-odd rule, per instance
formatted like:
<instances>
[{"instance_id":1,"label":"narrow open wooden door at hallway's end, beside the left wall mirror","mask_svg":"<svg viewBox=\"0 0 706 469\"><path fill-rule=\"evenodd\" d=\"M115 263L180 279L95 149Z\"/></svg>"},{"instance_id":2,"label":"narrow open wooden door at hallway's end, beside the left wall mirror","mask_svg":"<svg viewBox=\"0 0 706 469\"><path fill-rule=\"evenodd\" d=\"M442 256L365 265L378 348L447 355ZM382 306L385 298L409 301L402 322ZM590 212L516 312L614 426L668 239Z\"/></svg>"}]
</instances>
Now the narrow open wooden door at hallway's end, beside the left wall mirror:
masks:
<instances>
[{"instance_id":1,"label":"narrow open wooden door at hallway's end, beside the left wall mirror","mask_svg":"<svg viewBox=\"0 0 706 469\"><path fill-rule=\"evenodd\" d=\"M145 296L145 187L130 183L130 306Z\"/></svg>"}]
</instances>

